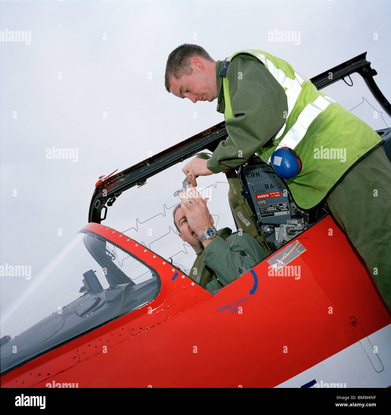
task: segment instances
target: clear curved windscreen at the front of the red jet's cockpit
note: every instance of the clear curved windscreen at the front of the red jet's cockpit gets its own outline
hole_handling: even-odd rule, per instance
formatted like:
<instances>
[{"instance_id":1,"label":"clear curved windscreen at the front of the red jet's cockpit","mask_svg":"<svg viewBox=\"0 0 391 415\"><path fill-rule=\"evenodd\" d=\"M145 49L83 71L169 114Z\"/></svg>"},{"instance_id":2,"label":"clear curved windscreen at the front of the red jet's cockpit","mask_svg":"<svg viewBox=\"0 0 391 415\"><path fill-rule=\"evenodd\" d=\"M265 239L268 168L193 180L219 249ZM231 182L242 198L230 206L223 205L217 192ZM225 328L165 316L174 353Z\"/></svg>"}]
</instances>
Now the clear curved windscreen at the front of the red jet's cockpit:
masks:
<instances>
[{"instance_id":1,"label":"clear curved windscreen at the front of the red jet's cockpit","mask_svg":"<svg viewBox=\"0 0 391 415\"><path fill-rule=\"evenodd\" d=\"M149 303L159 290L153 269L80 231L2 316L1 371Z\"/></svg>"}]
</instances>

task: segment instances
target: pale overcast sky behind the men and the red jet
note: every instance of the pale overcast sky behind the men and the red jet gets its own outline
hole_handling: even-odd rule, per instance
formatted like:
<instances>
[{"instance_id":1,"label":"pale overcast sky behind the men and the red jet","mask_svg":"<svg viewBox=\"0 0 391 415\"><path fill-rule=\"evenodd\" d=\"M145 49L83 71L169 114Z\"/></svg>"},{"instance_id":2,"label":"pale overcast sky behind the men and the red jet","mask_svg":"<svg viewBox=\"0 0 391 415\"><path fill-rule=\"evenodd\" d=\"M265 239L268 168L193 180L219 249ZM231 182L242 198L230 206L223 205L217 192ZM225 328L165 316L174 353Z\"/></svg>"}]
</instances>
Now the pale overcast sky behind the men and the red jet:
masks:
<instances>
[{"instance_id":1,"label":"pale overcast sky behind the men and the red jet","mask_svg":"<svg viewBox=\"0 0 391 415\"><path fill-rule=\"evenodd\" d=\"M0 42L0 264L32 267L29 281L1 277L2 310L87 223L99 176L223 120L216 101L166 92L175 47L200 44L215 60L261 49L308 78L367 51L390 100L390 12L389 0L1 2L0 30L30 31L31 44ZM300 43L269 41L275 29ZM352 80L323 92L358 105L352 112L374 129L390 126L362 78ZM52 146L78 149L78 161L46 159Z\"/></svg>"}]
</instances>

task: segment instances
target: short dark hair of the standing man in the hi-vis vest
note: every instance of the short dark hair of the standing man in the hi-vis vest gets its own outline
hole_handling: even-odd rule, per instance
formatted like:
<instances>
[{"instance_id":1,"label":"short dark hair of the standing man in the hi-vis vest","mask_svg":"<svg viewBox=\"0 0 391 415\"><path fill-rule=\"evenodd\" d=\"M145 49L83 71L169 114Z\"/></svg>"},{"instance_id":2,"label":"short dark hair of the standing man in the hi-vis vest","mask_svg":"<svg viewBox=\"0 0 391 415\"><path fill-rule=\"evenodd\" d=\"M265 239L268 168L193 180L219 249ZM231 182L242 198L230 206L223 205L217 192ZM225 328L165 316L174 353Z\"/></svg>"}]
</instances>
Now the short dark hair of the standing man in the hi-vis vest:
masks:
<instances>
[{"instance_id":1,"label":"short dark hair of the standing man in the hi-vis vest","mask_svg":"<svg viewBox=\"0 0 391 415\"><path fill-rule=\"evenodd\" d=\"M164 79L165 89L168 92L170 92L170 78L172 76L175 79L179 79L183 75L190 75L192 73L190 59L194 58L194 56L199 56L200 58L214 62L203 47L189 43L178 46L177 49L174 49L168 55Z\"/></svg>"}]
</instances>

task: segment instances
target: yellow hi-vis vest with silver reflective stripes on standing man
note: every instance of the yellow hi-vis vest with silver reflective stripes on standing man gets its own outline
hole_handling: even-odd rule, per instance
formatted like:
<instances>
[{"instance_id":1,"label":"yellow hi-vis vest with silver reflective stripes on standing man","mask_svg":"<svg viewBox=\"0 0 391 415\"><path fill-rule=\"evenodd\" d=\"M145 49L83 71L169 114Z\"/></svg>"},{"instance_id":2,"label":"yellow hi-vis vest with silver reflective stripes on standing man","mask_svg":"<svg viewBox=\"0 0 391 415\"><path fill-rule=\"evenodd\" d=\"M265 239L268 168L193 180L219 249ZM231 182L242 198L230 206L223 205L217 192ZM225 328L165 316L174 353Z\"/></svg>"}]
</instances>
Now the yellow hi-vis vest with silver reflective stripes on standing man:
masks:
<instances>
[{"instance_id":1,"label":"yellow hi-vis vest with silver reflective stripes on standing man","mask_svg":"<svg viewBox=\"0 0 391 415\"><path fill-rule=\"evenodd\" d=\"M258 150L257 154L265 162L270 162L277 147L286 146L299 154L301 172L284 181L296 205L309 210L323 203L346 173L383 141L369 125L319 92L289 63L253 49L234 53L221 66L225 120L234 117L226 70L228 63L240 54L257 58L284 88L288 103L285 123L271 144ZM245 82L244 79L240 82Z\"/></svg>"}]
</instances>

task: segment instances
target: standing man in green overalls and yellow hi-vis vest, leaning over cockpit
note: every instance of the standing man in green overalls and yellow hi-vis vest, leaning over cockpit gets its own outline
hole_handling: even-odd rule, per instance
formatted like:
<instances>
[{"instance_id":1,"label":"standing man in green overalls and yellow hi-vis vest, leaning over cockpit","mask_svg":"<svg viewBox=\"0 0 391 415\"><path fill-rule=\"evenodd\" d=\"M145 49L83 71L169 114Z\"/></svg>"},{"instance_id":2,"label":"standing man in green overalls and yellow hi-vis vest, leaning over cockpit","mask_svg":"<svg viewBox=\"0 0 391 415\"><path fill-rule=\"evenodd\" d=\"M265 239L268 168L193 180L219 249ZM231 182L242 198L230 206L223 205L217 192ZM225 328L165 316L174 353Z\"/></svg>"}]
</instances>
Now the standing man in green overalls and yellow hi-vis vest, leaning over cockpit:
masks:
<instances>
[{"instance_id":1,"label":"standing man in green overalls and yellow hi-vis vest, leaning over cockpit","mask_svg":"<svg viewBox=\"0 0 391 415\"><path fill-rule=\"evenodd\" d=\"M226 120L228 138L211 158L182 168L193 186L198 176L238 167L255 152L268 162L277 147L294 149L302 169L285 183L296 205L328 204L391 309L391 164L369 125L289 63L258 50L214 61L200 46L181 45L168 57L165 87L194 103L217 98ZM319 157L323 149L334 157Z\"/></svg>"}]
</instances>

